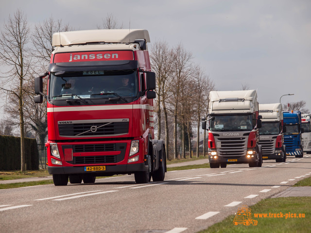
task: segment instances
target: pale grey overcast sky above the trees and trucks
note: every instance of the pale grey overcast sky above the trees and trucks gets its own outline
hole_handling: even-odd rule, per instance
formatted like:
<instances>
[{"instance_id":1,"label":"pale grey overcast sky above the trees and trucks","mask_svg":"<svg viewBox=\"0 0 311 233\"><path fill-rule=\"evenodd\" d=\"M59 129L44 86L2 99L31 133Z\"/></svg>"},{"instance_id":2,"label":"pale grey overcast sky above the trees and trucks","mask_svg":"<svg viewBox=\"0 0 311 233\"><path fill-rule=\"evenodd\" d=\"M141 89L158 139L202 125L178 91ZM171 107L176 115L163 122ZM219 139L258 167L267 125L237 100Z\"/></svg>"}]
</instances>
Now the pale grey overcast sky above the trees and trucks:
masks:
<instances>
[{"instance_id":1,"label":"pale grey overcast sky above the trees and trucks","mask_svg":"<svg viewBox=\"0 0 311 233\"><path fill-rule=\"evenodd\" d=\"M257 89L259 103L305 100L311 110L311 0L1 0L0 26L20 8L31 27L53 17L97 29L108 14L181 43L217 90ZM0 117L2 118L2 117Z\"/></svg>"}]
</instances>

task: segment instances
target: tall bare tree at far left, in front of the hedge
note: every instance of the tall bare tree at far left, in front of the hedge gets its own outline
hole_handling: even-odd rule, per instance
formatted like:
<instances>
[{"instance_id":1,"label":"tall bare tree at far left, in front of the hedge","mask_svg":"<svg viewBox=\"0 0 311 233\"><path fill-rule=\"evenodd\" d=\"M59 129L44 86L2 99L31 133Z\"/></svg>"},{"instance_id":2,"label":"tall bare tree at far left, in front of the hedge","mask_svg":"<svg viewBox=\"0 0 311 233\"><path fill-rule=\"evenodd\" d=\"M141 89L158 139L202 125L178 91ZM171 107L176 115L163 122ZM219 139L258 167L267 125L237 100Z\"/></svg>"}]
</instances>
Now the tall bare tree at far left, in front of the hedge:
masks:
<instances>
[{"instance_id":1,"label":"tall bare tree at far left, in front of the hedge","mask_svg":"<svg viewBox=\"0 0 311 233\"><path fill-rule=\"evenodd\" d=\"M27 43L30 29L27 19L21 10L17 10L14 17L11 15L4 22L0 38L0 60L9 68L2 80L0 90L8 96L18 100L20 126L20 158L21 171L25 172L25 145L24 145L24 95L28 89L30 58ZM7 84L8 83L8 84Z\"/></svg>"}]
</instances>

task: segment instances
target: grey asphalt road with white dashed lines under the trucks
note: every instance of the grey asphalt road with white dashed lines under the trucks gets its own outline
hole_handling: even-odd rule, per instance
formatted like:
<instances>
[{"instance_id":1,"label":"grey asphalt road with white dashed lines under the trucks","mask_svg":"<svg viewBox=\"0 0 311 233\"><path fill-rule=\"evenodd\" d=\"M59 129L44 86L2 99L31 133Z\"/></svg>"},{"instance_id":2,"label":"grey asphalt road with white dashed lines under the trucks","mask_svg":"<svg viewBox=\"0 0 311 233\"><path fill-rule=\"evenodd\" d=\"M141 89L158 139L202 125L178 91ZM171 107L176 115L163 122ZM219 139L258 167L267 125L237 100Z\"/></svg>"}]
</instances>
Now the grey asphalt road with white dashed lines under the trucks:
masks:
<instances>
[{"instance_id":1,"label":"grey asphalt road with white dashed lines under the trucks","mask_svg":"<svg viewBox=\"0 0 311 233\"><path fill-rule=\"evenodd\" d=\"M311 155L305 155L264 161L260 168L171 171L164 182L148 184L127 175L94 184L3 189L0 232L195 233L309 176Z\"/></svg>"}]
</instances>

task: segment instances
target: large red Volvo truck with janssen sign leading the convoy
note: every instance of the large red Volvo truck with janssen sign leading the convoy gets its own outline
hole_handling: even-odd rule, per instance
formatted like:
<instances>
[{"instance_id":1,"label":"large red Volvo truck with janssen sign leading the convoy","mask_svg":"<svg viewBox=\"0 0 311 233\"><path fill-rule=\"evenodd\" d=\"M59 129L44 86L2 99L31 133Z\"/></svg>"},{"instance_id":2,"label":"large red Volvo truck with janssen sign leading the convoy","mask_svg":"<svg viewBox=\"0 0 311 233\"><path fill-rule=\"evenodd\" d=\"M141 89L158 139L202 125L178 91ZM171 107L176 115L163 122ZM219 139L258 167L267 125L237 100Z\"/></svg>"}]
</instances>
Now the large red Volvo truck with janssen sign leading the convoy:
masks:
<instances>
[{"instance_id":1,"label":"large red Volvo truck with janssen sign leading the convoy","mask_svg":"<svg viewBox=\"0 0 311 233\"><path fill-rule=\"evenodd\" d=\"M137 183L164 180L147 42L148 31L140 29L53 34L49 70L35 78L35 102L47 99L48 170L55 185L115 174L134 174Z\"/></svg>"}]
</instances>

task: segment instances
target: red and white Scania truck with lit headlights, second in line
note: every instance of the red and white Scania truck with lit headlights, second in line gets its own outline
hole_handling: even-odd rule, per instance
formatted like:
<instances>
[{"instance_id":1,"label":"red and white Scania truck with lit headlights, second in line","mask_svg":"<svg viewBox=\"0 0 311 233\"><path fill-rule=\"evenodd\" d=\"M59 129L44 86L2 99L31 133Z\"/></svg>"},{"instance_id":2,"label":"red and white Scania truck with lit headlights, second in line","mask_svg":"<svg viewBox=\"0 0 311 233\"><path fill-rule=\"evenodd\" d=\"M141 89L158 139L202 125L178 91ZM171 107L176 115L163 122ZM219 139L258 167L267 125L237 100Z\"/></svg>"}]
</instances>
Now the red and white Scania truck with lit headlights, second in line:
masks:
<instances>
[{"instance_id":1,"label":"red and white Scania truck with lit headlights, second in line","mask_svg":"<svg viewBox=\"0 0 311 233\"><path fill-rule=\"evenodd\" d=\"M211 91L208 123L208 159L211 168L227 164L261 166L261 127L256 90Z\"/></svg>"}]
</instances>

